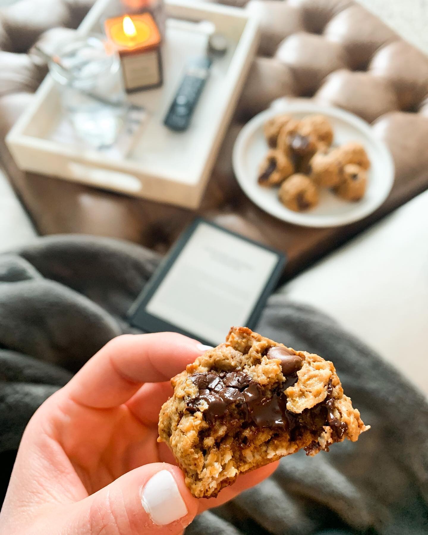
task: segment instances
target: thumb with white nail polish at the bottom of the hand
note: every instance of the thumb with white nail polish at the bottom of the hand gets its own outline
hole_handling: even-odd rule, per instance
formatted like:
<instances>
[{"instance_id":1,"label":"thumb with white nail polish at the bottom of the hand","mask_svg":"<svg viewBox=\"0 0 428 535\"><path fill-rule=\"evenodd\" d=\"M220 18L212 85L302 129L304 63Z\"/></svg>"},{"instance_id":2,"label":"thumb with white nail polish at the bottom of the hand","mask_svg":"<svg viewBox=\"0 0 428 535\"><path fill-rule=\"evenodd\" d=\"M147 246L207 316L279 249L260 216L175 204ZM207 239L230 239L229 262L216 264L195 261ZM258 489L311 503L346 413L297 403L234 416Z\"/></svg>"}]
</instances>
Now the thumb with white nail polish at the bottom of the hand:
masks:
<instances>
[{"instance_id":1,"label":"thumb with white nail polish at the bottom of the hand","mask_svg":"<svg viewBox=\"0 0 428 535\"><path fill-rule=\"evenodd\" d=\"M75 503L73 535L182 533L198 509L184 475L166 463L146 464Z\"/></svg>"}]
</instances>

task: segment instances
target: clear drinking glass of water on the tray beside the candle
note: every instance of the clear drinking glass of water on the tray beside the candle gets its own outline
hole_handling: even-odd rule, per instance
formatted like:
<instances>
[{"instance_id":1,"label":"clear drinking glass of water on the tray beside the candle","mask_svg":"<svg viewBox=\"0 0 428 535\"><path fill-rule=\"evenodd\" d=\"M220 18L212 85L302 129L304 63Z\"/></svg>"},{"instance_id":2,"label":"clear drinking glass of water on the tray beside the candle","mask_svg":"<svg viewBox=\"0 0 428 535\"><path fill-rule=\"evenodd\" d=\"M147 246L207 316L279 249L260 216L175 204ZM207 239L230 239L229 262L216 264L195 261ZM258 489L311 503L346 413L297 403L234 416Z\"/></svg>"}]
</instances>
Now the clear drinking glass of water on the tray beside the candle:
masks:
<instances>
[{"instance_id":1,"label":"clear drinking glass of water on the tray beside the candle","mask_svg":"<svg viewBox=\"0 0 428 535\"><path fill-rule=\"evenodd\" d=\"M88 36L60 48L49 70L76 134L93 147L111 146L126 115L119 56Z\"/></svg>"}]
</instances>

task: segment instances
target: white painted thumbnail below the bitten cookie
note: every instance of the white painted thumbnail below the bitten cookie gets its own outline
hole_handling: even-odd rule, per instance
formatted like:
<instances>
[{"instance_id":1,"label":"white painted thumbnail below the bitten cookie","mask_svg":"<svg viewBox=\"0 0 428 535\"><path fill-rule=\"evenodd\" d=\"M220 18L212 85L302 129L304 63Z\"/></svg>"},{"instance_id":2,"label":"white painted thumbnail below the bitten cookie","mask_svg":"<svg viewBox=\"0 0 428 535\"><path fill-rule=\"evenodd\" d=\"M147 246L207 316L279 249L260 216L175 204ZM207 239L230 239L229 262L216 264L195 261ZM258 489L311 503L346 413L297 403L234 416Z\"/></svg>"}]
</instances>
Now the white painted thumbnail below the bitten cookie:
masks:
<instances>
[{"instance_id":1,"label":"white painted thumbnail below the bitten cookie","mask_svg":"<svg viewBox=\"0 0 428 535\"><path fill-rule=\"evenodd\" d=\"M161 470L148 480L141 493L141 503L152 522L158 526L171 524L187 515L186 504L168 470Z\"/></svg>"}]
</instances>

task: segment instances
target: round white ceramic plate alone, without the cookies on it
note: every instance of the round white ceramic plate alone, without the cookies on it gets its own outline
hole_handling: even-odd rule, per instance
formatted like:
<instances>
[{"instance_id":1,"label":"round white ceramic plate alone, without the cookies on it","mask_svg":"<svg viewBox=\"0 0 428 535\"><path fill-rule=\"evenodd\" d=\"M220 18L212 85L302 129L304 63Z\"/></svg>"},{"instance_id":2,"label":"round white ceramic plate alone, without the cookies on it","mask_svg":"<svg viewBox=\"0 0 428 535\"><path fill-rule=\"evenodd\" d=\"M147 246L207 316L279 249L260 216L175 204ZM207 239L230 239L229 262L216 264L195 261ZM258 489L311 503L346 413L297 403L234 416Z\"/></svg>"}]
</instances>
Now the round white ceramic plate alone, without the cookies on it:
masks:
<instances>
[{"instance_id":1,"label":"round white ceramic plate alone, without the cookies on it","mask_svg":"<svg viewBox=\"0 0 428 535\"><path fill-rule=\"evenodd\" d=\"M300 119L322 113L330 119L334 144L358 141L371 162L368 188L361 201L343 201L327 189L320 191L319 204L307 212L288 210L278 199L278 188L257 184L258 166L268 151L263 125L271 117L289 113ZM352 113L312 102L282 103L259 113L239 133L233 148L233 168L244 193L265 212L295 225L333 227L353 223L375 211L386 199L394 181L394 163L386 144L373 133L370 125Z\"/></svg>"}]
</instances>

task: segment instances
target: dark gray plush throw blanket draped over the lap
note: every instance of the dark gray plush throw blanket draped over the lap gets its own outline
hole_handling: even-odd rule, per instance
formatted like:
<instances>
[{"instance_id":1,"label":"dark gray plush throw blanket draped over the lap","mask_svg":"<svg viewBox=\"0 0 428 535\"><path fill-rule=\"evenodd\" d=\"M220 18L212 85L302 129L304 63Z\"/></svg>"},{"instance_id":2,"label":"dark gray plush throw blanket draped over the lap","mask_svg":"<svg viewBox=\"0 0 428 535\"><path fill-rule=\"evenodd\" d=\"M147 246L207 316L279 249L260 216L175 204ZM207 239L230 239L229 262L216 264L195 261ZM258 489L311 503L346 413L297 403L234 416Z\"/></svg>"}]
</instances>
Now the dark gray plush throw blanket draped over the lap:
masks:
<instances>
[{"instance_id":1,"label":"dark gray plush throw blanket draped over the lap","mask_svg":"<svg viewBox=\"0 0 428 535\"><path fill-rule=\"evenodd\" d=\"M0 255L3 492L34 410L108 340L135 332L126 311L158 261L132 244L82 236L42 238ZM328 454L284 458L273 477L197 517L187 535L426 535L423 396L330 318L284 296L271 297L257 331L332 360L372 429ZM403 358L412 365L411 355Z\"/></svg>"}]
</instances>

